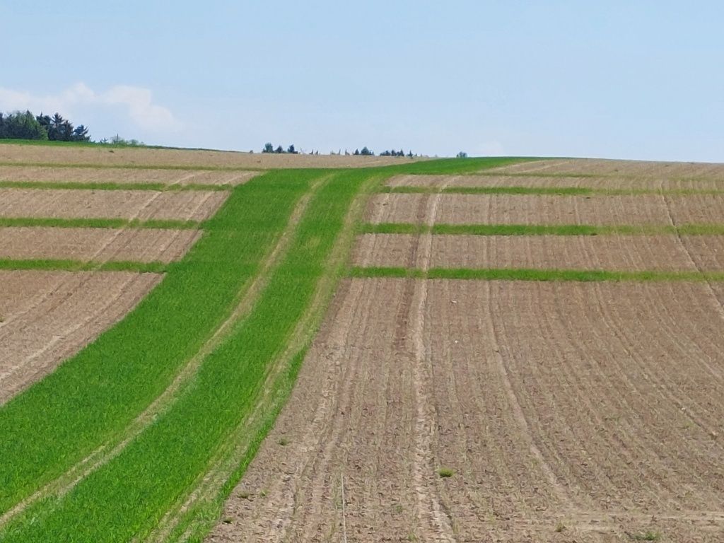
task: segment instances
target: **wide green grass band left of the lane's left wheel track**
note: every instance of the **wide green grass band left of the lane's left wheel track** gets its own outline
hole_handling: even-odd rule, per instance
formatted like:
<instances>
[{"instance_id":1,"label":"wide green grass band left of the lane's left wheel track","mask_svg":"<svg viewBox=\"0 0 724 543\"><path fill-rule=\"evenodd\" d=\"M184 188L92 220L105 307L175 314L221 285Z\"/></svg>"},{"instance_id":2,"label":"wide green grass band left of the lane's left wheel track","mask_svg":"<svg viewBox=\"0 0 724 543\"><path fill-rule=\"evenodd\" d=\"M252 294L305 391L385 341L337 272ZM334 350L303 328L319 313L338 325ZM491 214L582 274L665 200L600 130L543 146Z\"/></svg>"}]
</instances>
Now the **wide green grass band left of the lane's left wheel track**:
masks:
<instances>
[{"instance_id":1,"label":"wide green grass band left of the lane's left wheel track","mask_svg":"<svg viewBox=\"0 0 724 543\"><path fill-rule=\"evenodd\" d=\"M0 511L122 432L167 388L230 314L323 174L274 172L235 188L206 235L134 311L0 406Z\"/></svg>"}]
</instances>

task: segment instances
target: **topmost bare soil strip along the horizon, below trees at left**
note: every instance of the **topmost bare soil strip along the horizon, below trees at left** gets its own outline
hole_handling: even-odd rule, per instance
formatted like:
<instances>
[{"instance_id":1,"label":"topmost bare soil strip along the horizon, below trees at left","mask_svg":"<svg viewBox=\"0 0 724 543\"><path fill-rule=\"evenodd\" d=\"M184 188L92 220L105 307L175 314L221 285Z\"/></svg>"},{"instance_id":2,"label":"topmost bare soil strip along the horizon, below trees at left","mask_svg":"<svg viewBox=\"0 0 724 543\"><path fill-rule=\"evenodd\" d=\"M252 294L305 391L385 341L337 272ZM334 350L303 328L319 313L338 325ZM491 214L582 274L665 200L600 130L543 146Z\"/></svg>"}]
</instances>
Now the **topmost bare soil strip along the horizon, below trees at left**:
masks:
<instances>
[{"instance_id":1,"label":"topmost bare soil strip along the horizon, below trees at left","mask_svg":"<svg viewBox=\"0 0 724 543\"><path fill-rule=\"evenodd\" d=\"M13 164L98 164L100 166L269 168L364 168L408 164L397 156L330 156L239 153L194 149L106 148L103 146L0 145L0 162Z\"/></svg>"}]
</instances>

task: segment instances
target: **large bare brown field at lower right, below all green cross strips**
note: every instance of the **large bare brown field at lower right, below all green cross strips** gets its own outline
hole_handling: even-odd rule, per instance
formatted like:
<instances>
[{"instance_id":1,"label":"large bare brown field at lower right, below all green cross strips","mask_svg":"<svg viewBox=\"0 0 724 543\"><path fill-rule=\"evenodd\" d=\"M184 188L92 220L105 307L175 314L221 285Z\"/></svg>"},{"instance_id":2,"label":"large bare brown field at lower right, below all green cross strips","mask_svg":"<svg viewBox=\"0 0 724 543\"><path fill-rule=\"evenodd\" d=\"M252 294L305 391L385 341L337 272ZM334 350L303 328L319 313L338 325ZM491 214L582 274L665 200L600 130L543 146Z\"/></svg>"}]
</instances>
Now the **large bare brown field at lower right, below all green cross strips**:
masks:
<instances>
[{"instance_id":1,"label":"large bare brown field at lower right, below all green cross strips","mask_svg":"<svg viewBox=\"0 0 724 543\"><path fill-rule=\"evenodd\" d=\"M347 280L209 541L719 542L715 292Z\"/></svg>"}]
</instances>

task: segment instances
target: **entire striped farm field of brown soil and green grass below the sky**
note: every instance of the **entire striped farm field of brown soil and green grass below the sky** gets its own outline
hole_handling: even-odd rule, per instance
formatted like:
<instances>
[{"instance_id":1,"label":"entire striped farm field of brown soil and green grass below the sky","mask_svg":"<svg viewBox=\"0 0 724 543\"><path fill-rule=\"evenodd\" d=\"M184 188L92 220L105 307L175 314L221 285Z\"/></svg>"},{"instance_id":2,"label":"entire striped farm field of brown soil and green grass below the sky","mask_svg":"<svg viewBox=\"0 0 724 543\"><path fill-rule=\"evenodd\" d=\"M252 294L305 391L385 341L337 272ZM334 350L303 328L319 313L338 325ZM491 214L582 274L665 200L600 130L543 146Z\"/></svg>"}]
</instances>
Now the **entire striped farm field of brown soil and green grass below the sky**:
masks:
<instances>
[{"instance_id":1,"label":"entire striped farm field of brown soil and green grass below the sky","mask_svg":"<svg viewBox=\"0 0 724 543\"><path fill-rule=\"evenodd\" d=\"M0 146L0 541L724 539L723 166L109 151Z\"/></svg>"}]
</instances>

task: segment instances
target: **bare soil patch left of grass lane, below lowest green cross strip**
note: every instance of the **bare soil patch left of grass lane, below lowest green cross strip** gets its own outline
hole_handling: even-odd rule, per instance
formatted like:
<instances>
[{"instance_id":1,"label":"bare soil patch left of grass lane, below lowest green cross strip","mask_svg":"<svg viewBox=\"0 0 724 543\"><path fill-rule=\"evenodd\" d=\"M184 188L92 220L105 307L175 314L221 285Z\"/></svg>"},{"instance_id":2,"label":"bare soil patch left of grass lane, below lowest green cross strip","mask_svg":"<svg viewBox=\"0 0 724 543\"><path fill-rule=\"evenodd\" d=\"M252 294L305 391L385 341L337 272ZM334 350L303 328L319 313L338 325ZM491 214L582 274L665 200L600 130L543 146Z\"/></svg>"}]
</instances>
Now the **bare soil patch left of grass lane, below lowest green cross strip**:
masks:
<instances>
[{"instance_id":1,"label":"bare soil patch left of grass lane, below lowest green cross strip","mask_svg":"<svg viewBox=\"0 0 724 543\"><path fill-rule=\"evenodd\" d=\"M125 271L0 271L0 403L122 319L160 280Z\"/></svg>"}]
</instances>

